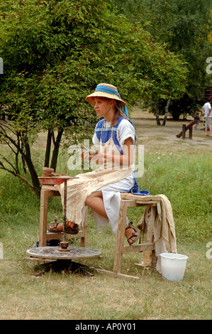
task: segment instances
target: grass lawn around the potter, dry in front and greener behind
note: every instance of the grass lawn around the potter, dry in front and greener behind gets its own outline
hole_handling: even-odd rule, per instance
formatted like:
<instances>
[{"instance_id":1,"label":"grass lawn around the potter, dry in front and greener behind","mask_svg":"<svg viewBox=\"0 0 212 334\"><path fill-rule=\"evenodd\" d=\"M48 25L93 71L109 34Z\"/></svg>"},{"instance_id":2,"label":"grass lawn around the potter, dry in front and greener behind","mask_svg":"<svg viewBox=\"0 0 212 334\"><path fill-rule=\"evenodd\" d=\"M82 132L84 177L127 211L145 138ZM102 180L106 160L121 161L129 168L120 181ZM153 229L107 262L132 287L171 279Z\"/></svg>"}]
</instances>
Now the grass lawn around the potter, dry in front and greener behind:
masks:
<instances>
[{"instance_id":1,"label":"grass lawn around the potter, dry in front and greener behind","mask_svg":"<svg viewBox=\"0 0 212 334\"><path fill-rule=\"evenodd\" d=\"M65 156L59 166L58 172L67 172ZM163 193L172 203L177 250L189 257L181 282L164 281L154 269L138 269L139 253L125 254L122 266L124 274L140 276L139 281L65 271L36 278L40 269L26 261L26 249L38 240L40 201L18 178L0 171L0 318L210 319L212 260L206 257L206 244L212 241L211 166L205 153L145 153L145 174L138 180L141 189ZM48 220L54 215L62 217L60 198L50 199ZM128 215L140 220L137 208ZM91 212L89 247L101 249L103 257L83 263L113 269L115 238L109 228L96 233Z\"/></svg>"}]
</instances>

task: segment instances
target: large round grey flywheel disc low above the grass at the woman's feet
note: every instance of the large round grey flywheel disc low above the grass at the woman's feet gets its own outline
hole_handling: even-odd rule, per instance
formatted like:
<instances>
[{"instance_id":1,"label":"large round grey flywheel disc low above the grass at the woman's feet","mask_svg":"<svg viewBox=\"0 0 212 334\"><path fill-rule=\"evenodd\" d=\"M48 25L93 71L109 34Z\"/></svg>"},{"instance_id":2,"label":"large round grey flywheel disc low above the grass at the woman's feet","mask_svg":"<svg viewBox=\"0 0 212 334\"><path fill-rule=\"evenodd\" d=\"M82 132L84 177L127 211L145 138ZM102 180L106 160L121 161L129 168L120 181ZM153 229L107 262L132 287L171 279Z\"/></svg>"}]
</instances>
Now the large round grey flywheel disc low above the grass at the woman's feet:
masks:
<instances>
[{"instance_id":1,"label":"large round grey flywheel disc low above the grass at the woman's feet","mask_svg":"<svg viewBox=\"0 0 212 334\"><path fill-rule=\"evenodd\" d=\"M101 251L85 247L67 247L68 252L60 252L60 246L35 247L26 251L30 257L41 257L43 259L90 259L99 257Z\"/></svg>"}]
</instances>

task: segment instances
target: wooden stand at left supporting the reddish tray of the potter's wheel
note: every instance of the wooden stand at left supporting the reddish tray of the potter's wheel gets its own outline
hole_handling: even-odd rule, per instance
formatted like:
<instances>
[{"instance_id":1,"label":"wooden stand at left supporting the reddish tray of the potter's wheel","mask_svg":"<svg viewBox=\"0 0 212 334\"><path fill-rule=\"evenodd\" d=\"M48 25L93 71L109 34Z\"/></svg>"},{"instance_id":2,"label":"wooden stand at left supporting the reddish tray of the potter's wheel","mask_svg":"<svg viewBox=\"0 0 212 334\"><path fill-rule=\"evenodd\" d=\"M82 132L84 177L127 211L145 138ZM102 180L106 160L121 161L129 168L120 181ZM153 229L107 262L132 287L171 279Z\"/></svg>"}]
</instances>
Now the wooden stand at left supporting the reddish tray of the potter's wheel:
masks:
<instances>
[{"instance_id":1,"label":"wooden stand at left supporting the reddish tray of the potter's wheel","mask_svg":"<svg viewBox=\"0 0 212 334\"><path fill-rule=\"evenodd\" d=\"M47 232L48 225L48 198L51 196L60 196L59 190L53 185L42 185L40 193L40 232L39 247L46 247L47 240L62 239L62 232ZM88 225L88 208L85 208L84 224L77 235L66 234L67 239L81 238L81 247L87 247L87 225Z\"/></svg>"}]
</instances>

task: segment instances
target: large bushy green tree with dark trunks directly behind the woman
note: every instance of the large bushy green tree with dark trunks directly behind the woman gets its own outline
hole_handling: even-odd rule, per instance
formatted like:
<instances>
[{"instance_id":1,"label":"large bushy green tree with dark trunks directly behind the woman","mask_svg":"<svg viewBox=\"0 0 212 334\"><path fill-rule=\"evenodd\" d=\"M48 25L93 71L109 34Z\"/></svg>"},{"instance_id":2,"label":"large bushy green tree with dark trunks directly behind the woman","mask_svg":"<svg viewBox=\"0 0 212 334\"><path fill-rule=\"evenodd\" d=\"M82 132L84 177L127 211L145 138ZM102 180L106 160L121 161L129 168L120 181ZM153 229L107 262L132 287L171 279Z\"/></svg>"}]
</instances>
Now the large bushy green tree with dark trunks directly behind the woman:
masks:
<instances>
[{"instance_id":1,"label":"large bushy green tree with dark trunks directly behind the woman","mask_svg":"<svg viewBox=\"0 0 212 334\"><path fill-rule=\"evenodd\" d=\"M38 194L32 150L39 131L48 131L44 166L56 170L62 138L80 142L96 122L94 109L85 102L96 84L117 85L130 104L184 92L182 60L104 0L0 4L0 103L10 119L1 122L0 139L13 153L13 159L1 154L0 168Z\"/></svg>"}]
</instances>

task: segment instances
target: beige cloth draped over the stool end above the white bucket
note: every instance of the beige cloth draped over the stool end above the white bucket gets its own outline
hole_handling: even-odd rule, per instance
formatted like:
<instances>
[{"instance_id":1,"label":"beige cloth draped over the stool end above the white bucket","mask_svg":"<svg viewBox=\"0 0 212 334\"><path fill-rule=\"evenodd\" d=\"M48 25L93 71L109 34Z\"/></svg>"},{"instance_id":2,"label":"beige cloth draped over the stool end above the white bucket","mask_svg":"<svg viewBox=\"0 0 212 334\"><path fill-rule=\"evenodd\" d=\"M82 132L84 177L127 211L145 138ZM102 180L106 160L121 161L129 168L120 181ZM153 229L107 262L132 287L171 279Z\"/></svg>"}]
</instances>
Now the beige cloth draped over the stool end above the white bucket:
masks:
<instances>
[{"instance_id":1,"label":"beige cloth draped over the stool end above the white bucket","mask_svg":"<svg viewBox=\"0 0 212 334\"><path fill-rule=\"evenodd\" d=\"M145 242L155 243L156 269L161 273L160 254L177 253L172 205L165 195L159 195L157 207L147 207L138 228L145 234ZM143 265L149 266L143 252Z\"/></svg>"}]
</instances>

